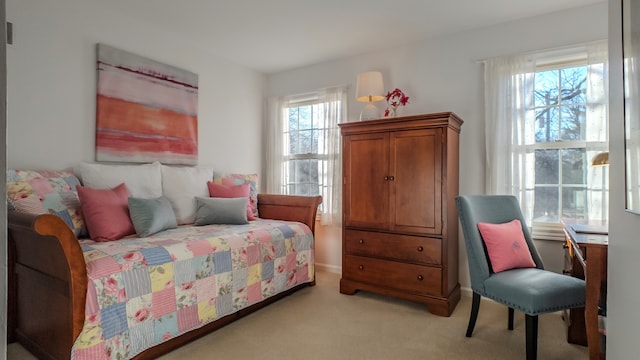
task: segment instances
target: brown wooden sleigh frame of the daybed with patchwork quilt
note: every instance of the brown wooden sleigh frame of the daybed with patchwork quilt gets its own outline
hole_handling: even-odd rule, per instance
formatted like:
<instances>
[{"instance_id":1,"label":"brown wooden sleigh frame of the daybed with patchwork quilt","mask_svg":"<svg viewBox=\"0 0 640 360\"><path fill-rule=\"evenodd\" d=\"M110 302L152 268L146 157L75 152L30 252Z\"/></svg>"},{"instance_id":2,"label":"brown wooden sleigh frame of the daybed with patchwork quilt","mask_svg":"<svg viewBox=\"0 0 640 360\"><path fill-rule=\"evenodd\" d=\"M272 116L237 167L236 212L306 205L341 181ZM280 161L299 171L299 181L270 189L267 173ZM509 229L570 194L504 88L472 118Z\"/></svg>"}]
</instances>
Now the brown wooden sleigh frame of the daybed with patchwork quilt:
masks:
<instances>
[{"instance_id":1,"label":"brown wooden sleigh frame of the daybed with patchwork quilt","mask_svg":"<svg viewBox=\"0 0 640 360\"><path fill-rule=\"evenodd\" d=\"M258 195L261 218L298 221L315 234L320 196ZM8 342L18 341L39 359L69 359L85 316L87 269L80 243L55 215L8 215ZM136 355L153 359L263 308L298 285Z\"/></svg>"}]
</instances>

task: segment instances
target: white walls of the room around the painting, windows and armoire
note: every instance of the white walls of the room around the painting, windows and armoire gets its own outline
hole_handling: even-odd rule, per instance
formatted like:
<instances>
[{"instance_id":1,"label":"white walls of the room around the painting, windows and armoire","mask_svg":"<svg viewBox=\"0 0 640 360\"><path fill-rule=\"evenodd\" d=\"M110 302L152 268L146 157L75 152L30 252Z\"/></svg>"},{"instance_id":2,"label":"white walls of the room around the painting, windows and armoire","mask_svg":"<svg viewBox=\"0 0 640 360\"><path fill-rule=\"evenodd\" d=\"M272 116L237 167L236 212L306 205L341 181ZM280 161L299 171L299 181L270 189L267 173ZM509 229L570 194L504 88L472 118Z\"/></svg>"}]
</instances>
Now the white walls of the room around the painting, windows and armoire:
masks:
<instances>
[{"instance_id":1,"label":"white walls of the room around the painting, windows and armoire","mask_svg":"<svg viewBox=\"0 0 640 360\"><path fill-rule=\"evenodd\" d=\"M620 5L618 0L609 3L616 12L609 15L615 45L620 38ZM604 39L607 12L606 3L596 4L275 74L268 78L268 94L350 84L353 120L362 106L353 100L356 75L380 70L387 89L400 87L411 96L405 115L454 111L465 120L460 192L482 193L484 108L482 65L477 60ZM15 43L7 49L9 167L59 169L94 159L95 44L104 42L199 74L200 163L222 171L260 170L264 76L221 60L214 50L202 51L187 39L115 12L108 1L7 0L6 14L15 31ZM621 70L616 66L611 65L610 171L622 174L622 95L621 84L616 84ZM612 359L636 357L640 323L634 301L640 297L640 286L625 281L637 274L640 241L635 234L640 233L640 218L623 210L622 179L610 179L609 277L618 279L609 281ZM318 262L339 269L340 232L319 229L319 234ZM461 283L468 286L464 250L460 260Z\"/></svg>"}]
</instances>

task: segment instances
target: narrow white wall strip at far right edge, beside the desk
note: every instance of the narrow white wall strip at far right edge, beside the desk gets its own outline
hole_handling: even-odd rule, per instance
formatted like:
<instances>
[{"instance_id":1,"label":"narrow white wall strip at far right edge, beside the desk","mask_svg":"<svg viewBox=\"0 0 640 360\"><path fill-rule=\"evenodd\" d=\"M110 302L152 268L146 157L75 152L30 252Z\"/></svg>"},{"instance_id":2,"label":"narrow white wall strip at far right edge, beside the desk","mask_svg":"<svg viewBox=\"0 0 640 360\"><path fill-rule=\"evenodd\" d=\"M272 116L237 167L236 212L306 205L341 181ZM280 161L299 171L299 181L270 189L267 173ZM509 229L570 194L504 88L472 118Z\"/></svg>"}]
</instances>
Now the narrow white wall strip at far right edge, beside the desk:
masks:
<instances>
[{"instance_id":1,"label":"narrow white wall strip at far right edge, beside the desk","mask_svg":"<svg viewBox=\"0 0 640 360\"><path fill-rule=\"evenodd\" d=\"M624 113L619 0L609 0L609 259L607 357L638 358L640 216L624 210ZM638 20L638 19L634 19ZM636 279L636 280L633 280ZM628 280L628 281L627 281Z\"/></svg>"}]
</instances>

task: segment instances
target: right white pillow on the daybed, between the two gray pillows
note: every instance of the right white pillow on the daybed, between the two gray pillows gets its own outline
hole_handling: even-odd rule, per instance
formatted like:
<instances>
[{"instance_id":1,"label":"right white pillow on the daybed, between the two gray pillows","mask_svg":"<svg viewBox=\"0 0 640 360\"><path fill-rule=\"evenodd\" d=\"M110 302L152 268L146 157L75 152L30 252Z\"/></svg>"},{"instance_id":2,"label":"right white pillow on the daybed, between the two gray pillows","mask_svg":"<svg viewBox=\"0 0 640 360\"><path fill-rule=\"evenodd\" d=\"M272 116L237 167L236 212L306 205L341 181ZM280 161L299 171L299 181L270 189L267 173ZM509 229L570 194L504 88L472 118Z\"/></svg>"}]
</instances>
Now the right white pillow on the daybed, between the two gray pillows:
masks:
<instances>
[{"instance_id":1,"label":"right white pillow on the daybed, between the two gray pillows","mask_svg":"<svg viewBox=\"0 0 640 360\"><path fill-rule=\"evenodd\" d=\"M171 202L179 225L193 224L196 197L209 197L207 181L213 179L213 167L162 165L162 190Z\"/></svg>"}]
</instances>

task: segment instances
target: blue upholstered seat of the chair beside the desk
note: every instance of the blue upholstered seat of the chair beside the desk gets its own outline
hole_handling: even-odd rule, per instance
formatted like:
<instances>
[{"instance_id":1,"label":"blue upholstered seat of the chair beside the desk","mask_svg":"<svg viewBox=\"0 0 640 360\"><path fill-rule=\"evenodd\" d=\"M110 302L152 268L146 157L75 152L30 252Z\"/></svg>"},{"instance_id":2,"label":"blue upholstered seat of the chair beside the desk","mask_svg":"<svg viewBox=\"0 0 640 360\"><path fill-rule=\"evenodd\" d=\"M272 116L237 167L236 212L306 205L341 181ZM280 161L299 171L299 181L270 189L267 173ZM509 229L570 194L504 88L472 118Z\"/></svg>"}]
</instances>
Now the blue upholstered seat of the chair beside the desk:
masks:
<instances>
[{"instance_id":1,"label":"blue upholstered seat of the chair beside the desk","mask_svg":"<svg viewBox=\"0 0 640 360\"><path fill-rule=\"evenodd\" d=\"M473 290L478 292L475 288ZM537 268L493 274L484 281L484 290L484 293L478 293L527 315L583 307L585 304L584 280Z\"/></svg>"}]
</instances>

